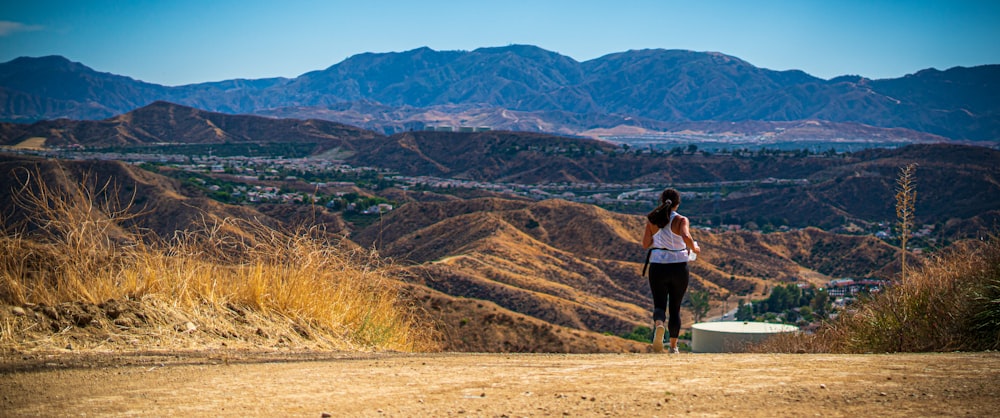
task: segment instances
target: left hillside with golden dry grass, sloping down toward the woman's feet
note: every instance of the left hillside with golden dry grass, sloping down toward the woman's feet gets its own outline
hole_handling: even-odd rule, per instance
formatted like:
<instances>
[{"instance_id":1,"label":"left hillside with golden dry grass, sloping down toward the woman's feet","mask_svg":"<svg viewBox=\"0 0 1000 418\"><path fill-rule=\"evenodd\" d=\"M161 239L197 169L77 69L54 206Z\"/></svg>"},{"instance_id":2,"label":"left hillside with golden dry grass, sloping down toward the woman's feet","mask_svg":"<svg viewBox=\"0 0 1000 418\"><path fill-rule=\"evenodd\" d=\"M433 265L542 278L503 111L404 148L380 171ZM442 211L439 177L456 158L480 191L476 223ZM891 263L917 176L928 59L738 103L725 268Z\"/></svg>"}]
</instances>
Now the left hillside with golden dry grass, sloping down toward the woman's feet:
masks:
<instances>
[{"instance_id":1,"label":"left hillside with golden dry grass, sloping down toward the woman's feet","mask_svg":"<svg viewBox=\"0 0 1000 418\"><path fill-rule=\"evenodd\" d=\"M0 168L5 347L644 350L400 281L412 273L324 230L342 221L309 206L261 207L279 220L120 162Z\"/></svg>"}]
</instances>

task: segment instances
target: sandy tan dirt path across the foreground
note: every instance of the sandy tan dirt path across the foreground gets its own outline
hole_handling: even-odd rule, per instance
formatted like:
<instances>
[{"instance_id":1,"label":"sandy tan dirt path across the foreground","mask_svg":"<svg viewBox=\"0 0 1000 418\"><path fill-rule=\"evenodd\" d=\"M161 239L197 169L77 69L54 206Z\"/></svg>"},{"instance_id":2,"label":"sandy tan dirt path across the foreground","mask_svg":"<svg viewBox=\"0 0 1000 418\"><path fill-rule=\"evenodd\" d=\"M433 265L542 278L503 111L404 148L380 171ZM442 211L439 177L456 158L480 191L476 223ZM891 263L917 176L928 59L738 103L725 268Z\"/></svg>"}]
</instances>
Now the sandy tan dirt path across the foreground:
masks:
<instances>
[{"instance_id":1,"label":"sandy tan dirt path across the foreground","mask_svg":"<svg viewBox=\"0 0 1000 418\"><path fill-rule=\"evenodd\" d=\"M51 354L2 416L997 416L1000 353Z\"/></svg>"}]
</instances>

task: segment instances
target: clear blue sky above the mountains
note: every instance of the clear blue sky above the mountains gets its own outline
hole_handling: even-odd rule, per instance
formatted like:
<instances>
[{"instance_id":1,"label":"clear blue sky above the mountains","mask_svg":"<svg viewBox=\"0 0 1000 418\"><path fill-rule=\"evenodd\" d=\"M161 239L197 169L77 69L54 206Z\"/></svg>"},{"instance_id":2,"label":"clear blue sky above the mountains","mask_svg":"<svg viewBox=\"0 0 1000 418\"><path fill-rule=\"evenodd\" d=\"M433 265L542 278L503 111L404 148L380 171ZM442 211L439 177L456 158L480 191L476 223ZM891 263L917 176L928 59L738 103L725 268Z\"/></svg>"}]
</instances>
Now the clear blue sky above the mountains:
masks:
<instances>
[{"instance_id":1,"label":"clear blue sky above the mountains","mask_svg":"<svg viewBox=\"0 0 1000 418\"><path fill-rule=\"evenodd\" d=\"M166 85L295 77L363 52L531 44L586 61L717 51L817 77L1000 64L1000 1L4 1L0 62L62 55Z\"/></svg>"}]
</instances>

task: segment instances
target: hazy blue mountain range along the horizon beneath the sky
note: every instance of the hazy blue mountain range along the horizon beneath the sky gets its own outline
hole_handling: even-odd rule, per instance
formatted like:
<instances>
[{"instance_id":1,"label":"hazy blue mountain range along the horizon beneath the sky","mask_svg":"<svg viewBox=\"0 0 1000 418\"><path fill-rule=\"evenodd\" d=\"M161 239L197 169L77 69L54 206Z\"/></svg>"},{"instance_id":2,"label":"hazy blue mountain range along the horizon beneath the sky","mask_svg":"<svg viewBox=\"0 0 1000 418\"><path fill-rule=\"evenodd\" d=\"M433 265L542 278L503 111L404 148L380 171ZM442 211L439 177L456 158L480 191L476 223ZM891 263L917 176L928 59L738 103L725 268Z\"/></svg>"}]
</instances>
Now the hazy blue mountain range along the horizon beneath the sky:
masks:
<instances>
[{"instance_id":1,"label":"hazy blue mountain range along the horizon beneath the sky","mask_svg":"<svg viewBox=\"0 0 1000 418\"><path fill-rule=\"evenodd\" d=\"M580 134L820 120L1000 138L1000 65L895 79L773 71L714 52L633 50L578 62L530 45L364 53L301 76L161 86L63 57L0 64L0 119L104 119L158 100L319 118L379 132L427 125ZM683 128L678 128L683 126ZM705 128L704 130L711 130Z\"/></svg>"}]
</instances>

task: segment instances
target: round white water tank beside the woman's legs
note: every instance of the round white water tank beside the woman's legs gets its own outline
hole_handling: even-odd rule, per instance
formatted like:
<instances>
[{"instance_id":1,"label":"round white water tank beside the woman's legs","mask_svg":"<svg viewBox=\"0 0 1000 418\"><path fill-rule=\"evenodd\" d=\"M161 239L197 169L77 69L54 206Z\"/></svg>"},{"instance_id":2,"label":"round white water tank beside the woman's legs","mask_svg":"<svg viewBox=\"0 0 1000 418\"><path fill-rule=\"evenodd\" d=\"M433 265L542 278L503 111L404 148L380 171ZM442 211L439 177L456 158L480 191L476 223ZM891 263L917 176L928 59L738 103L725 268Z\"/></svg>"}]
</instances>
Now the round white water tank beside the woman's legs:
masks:
<instances>
[{"instance_id":1,"label":"round white water tank beside the woman's legs","mask_svg":"<svg viewBox=\"0 0 1000 418\"><path fill-rule=\"evenodd\" d=\"M691 351L695 353L740 353L750 343L782 332L795 332L794 325L767 322L700 322L691 326Z\"/></svg>"}]
</instances>

